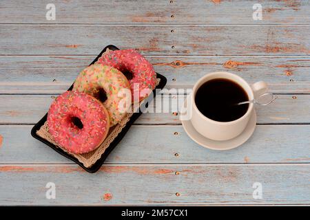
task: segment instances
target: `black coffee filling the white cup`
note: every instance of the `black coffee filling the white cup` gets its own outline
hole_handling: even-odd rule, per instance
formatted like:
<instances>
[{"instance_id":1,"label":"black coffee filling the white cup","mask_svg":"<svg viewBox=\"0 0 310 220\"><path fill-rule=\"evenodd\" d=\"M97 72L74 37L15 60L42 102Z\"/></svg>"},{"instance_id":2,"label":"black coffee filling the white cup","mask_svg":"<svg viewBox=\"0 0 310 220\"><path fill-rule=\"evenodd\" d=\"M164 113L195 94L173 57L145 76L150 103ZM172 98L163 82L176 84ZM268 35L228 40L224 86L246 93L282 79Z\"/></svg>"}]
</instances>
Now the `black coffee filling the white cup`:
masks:
<instances>
[{"instance_id":1,"label":"black coffee filling the white cup","mask_svg":"<svg viewBox=\"0 0 310 220\"><path fill-rule=\"evenodd\" d=\"M247 93L240 85L225 78L207 81L198 88L195 96L199 111L218 122L231 122L241 118L247 112L249 104L236 103L248 100Z\"/></svg>"}]
</instances>

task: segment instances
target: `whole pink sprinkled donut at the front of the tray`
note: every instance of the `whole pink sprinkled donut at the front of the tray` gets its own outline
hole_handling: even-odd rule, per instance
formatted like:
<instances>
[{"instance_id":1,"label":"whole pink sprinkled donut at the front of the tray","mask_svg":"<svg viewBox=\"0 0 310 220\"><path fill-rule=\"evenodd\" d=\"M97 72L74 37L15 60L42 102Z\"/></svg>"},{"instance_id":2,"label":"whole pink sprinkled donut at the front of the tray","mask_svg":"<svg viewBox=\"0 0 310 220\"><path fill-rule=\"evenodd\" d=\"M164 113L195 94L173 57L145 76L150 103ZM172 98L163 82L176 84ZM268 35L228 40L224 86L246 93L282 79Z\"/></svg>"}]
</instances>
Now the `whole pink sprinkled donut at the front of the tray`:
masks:
<instances>
[{"instance_id":1,"label":"whole pink sprinkled donut at the front of the tray","mask_svg":"<svg viewBox=\"0 0 310 220\"><path fill-rule=\"evenodd\" d=\"M48 131L59 146L71 153L87 153L99 147L110 128L109 113L96 98L65 91L48 111Z\"/></svg>"}]
</instances>

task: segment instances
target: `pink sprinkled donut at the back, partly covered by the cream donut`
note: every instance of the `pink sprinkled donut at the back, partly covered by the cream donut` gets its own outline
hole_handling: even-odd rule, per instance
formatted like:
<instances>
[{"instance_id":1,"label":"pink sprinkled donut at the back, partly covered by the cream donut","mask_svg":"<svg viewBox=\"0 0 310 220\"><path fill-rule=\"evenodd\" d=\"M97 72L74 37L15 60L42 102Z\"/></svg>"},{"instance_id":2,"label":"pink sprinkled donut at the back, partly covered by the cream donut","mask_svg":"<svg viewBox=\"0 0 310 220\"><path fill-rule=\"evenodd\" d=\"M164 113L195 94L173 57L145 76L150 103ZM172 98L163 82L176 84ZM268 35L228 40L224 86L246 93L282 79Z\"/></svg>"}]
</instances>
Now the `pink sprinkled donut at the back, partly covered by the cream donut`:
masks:
<instances>
[{"instance_id":1,"label":"pink sprinkled donut at the back, partly covered by the cream donut","mask_svg":"<svg viewBox=\"0 0 310 220\"><path fill-rule=\"evenodd\" d=\"M97 63L110 65L128 78L132 102L141 102L156 87L156 73L152 64L136 50L109 50L99 58Z\"/></svg>"}]
</instances>

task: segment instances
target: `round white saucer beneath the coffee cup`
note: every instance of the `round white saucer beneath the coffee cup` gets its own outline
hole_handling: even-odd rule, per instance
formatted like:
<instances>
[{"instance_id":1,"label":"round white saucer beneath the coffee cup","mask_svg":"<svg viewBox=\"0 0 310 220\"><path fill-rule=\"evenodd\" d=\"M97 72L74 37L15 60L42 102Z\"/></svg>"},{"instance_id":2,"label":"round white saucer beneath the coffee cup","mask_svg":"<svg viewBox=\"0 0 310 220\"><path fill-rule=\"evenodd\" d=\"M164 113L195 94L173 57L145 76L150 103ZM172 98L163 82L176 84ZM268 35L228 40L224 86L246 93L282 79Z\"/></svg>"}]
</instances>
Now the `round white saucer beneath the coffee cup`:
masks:
<instances>
[{"instance_id":1,"label":"round white saucer beneath the coffee cup","mask_svg":"<svg viewBox=\"0 0 310 220\"><path fill-rule=\"evenodd\" d=\"M187 99L185 99L183 104L183 109L181 111L182 113L186 112L185 110L186 100ZM192 140L194 140L194 142L196 142L197 144L200 144L201 146L205 146L206 148L212 150L225 151L240 146L241 144L245 143L249 139L249 137L251 137L256 128L256 111L254 109L251 118L249 119L249 122L245 127L245 130L242 131L240 135L234 137L231 140L224 140L224 141L211 140L207 137L204 137L203 135L200 135L200 133L198 133L198 131L194 129L194 126L192 125L192 122L190 120L181 120L181 122L187 135L189 135L189 137L191 137Z\"/></svg>"}]
</instances>

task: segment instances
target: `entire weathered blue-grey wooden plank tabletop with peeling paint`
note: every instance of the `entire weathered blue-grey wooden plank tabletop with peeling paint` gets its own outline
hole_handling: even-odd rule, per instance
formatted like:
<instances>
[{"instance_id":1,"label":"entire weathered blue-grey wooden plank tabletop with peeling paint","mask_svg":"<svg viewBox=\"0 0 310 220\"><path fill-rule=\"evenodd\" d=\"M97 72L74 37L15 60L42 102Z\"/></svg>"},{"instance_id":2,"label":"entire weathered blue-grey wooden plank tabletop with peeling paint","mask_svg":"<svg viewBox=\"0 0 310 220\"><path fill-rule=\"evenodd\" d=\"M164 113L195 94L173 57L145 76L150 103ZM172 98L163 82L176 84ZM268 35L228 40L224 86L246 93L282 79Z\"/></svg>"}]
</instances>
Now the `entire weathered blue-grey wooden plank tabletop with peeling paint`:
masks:
<instances>
[{"instance_id":1,"label":"entire weathered blue-grey wooden plank tabletop with peeling paint","mask_svg":"<svg viewBox=\"0 0 310 220\"><path fill-rule=\"evenodd\" d=\"M1 205L309 205L309 1L53 2L56 20L45 18L50 1L0 2ZM146 113L86 173L30 129L109 44L140 50L169 89L227 71L265 80L279 98L224 152L189 139L176 113ZM56 199L45 197L48 182Z\"/></svg>"}]
</instances>

